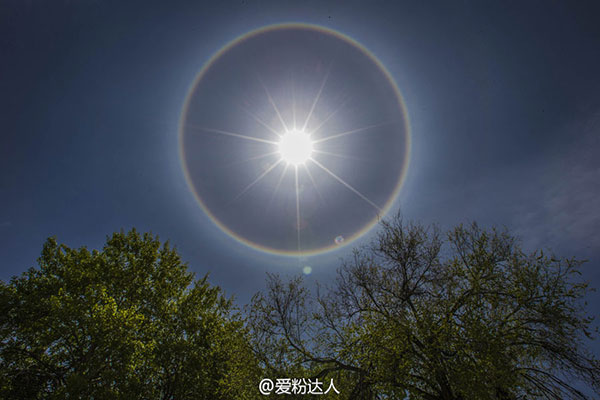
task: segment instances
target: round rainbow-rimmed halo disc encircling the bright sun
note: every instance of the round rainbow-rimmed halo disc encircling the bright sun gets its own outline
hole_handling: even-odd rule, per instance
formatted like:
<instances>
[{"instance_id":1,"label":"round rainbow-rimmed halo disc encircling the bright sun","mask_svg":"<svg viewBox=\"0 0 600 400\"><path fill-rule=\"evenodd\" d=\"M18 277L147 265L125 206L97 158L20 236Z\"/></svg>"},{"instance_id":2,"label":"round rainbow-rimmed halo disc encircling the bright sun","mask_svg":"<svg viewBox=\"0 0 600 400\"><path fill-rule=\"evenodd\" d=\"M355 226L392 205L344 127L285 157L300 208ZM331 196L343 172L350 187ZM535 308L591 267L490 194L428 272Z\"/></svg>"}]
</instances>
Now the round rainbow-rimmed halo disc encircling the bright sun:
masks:
<instances>
[{"instance_id":1,"label":"round rainbow-rimmed halo disc encircling the bright sun","mask_svg":"<svg viewBox=\"0 0 600 400\"><path fill-rule=\"evenodd\" d=\"M261 40L269 44L269 51L257 51L261 48ZM289 46L294 41L296 46ZM336 50L331 51L332 48ZM297 59L293 60L295 56ZM302 60L306 59L308 61L302 64ZM261 62L264 71L256 68ZM292 62L300 67L290 68ZM348 66L353 63L356 65ZM366 75L360 75L361 69ZM286 79L287 84L284 82ZM365 82L362 82L363 79ZM263 90L258 90L261 86ZM347 91L344 91L348 89L347 86L370 97L357 100L347 96ZM260 101L256 101L258 92L263 96ZM287 100L282 100L286 94ZM284 103L289 103L290 98L292 105L288 104L284 110ZM350 106L347 103L350 103ZM228 112L220 111L224 104L231 107ZM373 115L377 116L377 107L384 110L379 111L379 116L387 119L373 120ZM304 122L299 122L302 126L298 127L296 119L301 118L296 113L301 114L300 111L304 113ZM358 123L356 115L366 123ZM339 121L336 121L336 118ZM252 132L232 128L248 127L251 124L254 124ZM344 129L335 129L339 127ZM310 138L308 142L305 136ZM348 171L343 175L344 168L335 170L336 172L333 170L334 166L340 166L339 162L329 160L330 164L327 165L325 159L313 158L313 154L324 157L329 154L331 159L343 158L344 154L317 148L323 142L338 142L333 140L336 138L346 141L352 138L357 142L354 143L355 147L359 149L365 146L373 147L376 153L370 155L373 157L370 162L379 162L379 166L348 167ZM236 141L232 147L232 143ZM293 142L293 145L288 146L288 142ZM244 143L244 149L238 150L243 159L224 162L223 159L235 153L232 149L236 150L235 146L240 147L241 143ZM298 144L300 149L297 148ZM274 151L264 153L263 149L260 153L257 150L259 145L271 145ZM211 146L214 151L207 150ZM402 187L410 158L408 114L390 73L373 54L354 39L316 25L270 25L246 33L228 43L213 55L198 73L181 113L179 153L186 181L196 200L223 232L253 249L264 252L287 256L315 255L352 243L373 228L392 207ZM270 156L275 159L271 163L265 162ZM361 162L360 157L354 157L355 160L348 163L352 158L349 156L345 160L350 166ZM254 165L243 165L245 163ZM217 171L229 170L234 164L237 164L237 175L225 172L221 180L216 177L219 174ZM317 171L320 175L311 175L306 164L315 168L313 175ZM294 203L294 199L286 198L280 187L288 183L283 181L289 180L285 177L284 165L292 166L295 170L295 174L287 174L295 175L295 215L289 210L287 214L284 212L282 217L275 215L277 213L265 215L263 212L261 215L256 206L264 206L265 200L268 200L266 211L269 211L271 203L275 203L279 197L285 198L284 203ZM283 170L281 174L272 173L277 167ZM306 176L299 178L299 172L304 168ZM374 173L369 176L369 172ZM265 179L267 175L275 176L272 180L278 182L271 182L269 187ZM362 181L350 179L354 175L358 175L355 178L361 178ZM329 179L329 182L321 183L324 179ZM261 180L263 182L260 182ZM378 180L383 181L383 184L374 185ZM363 186L359 187L355 182L363 182ZM268 190L257 189L260 184L267 186ZM337 185L335 190L332 189L330 198L334 202L340 201L339 207L334 204L334 208L330 205L328 210L315 211L320 208L317 204L326 204L319 193L321 184L322 188L327 190ZM231 187L237 187L237 195L231 192ZM383 189L374 189L377 187ZM341 195L342 191L345 191L346 196L351 196L351 199L344 198ZM250 196L248 192L252 192L253 198L246 202L240 201L240 198ZM256 194L258 192L262 193L262 197ZM314 196L310 198L310 194L304 192L314 192L312 195L318 193L321 199ZM357 202L368 211L360 210L355 213L354 211L359 210ZM230 216L230 212L235 215ZM329 222L339 224L340 229L331 228L330 225L333 224L329 223L323 228L323 222L326 221L323 221L322 217L329 214L336 214L331 217L335 217L335 221ZM361 214L360 218L357 217L353 223L347 223L358 214ZM281 222L277 221L277 218L292 221L276 224ZM311 223L315 226L311 227ZM246 229L247 227L250 230ZM321 233L320 229L329 231ZM268 231L267 234L265 231ZM291 240L292 236L295 236L296 240ZM296 243L293 243L294 241Z\"/></svg>"}]
</instances>

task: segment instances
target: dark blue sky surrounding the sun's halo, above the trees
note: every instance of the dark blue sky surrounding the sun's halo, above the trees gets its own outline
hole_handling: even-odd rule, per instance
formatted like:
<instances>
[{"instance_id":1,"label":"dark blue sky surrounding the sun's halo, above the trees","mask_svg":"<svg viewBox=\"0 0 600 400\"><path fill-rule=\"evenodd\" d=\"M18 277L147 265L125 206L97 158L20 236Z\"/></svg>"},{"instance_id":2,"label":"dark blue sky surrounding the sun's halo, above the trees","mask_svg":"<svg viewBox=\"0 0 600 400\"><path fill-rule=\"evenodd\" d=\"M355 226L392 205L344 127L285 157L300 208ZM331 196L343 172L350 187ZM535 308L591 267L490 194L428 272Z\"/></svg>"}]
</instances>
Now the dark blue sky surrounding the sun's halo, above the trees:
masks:
<instances>
[{"instance_id":1,"label":"dark blue sky surrounding the sun's halo, above the trees","mask_svg":"<svg viewBox=\"0 0 600 400\"><path fill-rule=\"evenodd\" d=\"M405 217L505 225L589 259L600 287L600 10L592 2L4 1L0 278L44 240L99 247L121 228L176 244L241 303L298 260L216 228L187 186L178 120L203 64L252 29L306 22L373 52L408 109ZM336 253L303 260L327 280ZM600 296L590 298L600 312Z\"/></svg>"}]
</instances>

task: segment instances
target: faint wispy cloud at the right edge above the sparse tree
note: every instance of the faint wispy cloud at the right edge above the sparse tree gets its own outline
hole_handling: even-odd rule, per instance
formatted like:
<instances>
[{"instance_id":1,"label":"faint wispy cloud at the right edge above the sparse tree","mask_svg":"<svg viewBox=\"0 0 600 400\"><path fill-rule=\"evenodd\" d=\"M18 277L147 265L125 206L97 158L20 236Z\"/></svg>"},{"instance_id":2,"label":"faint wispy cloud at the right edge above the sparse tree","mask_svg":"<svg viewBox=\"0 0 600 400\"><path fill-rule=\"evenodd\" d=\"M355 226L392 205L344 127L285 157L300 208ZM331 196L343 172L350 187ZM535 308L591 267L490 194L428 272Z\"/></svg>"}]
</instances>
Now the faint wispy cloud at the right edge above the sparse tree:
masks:
<instances>
[{"instance_id":1,"label":"faint wispy cloud at the right edge above the sparse tree","mask_svg":"<svg viewBox=\"0 0 600 400\"><path fill-rule=\"evenodd\" d=\"M539 179L523 189L533 202L518 209L514 225L535 247L600 248L600 112L565 133L572 144L536 167Z\"/></svg>"}]
</instances>

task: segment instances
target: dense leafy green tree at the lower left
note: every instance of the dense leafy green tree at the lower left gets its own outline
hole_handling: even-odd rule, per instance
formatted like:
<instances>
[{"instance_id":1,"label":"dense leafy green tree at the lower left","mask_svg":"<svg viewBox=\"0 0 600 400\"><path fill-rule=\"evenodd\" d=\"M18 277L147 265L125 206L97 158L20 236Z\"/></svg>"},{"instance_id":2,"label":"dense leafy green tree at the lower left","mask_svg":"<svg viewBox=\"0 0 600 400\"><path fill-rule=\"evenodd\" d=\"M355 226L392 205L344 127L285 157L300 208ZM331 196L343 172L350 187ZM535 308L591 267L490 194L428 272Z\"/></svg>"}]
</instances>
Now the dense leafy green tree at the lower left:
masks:
<instances>
[{"instance_id":1,"label":"dense leafy green tree at the lower left","mask_svg":"<svg viewBox=\"0 0 600 400\"><path fill-rule=\"evenodd\" d=\"M135 230L102 251L48 239L0 284L0 397L246 399L256 362L243 320L176 250Z\"/></svg>"}]
</instances>

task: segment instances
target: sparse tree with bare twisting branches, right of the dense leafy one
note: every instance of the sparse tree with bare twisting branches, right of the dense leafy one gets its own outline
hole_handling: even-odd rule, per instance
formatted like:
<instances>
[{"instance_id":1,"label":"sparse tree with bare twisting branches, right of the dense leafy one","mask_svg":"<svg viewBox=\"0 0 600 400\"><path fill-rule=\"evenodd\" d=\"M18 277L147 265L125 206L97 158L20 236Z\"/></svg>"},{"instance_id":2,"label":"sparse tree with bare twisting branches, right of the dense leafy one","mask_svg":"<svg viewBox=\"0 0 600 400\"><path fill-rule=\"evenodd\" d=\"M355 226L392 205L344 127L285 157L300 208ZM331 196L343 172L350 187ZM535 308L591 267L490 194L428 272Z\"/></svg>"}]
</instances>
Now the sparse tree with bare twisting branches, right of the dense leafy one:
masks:
<instances>
[{"instance_id":1,"label":"sparse tree with bare twisting branches, right of the dense leafy one","mask_svg":"<svg viewBox=\"0 0 600 400\"><path fill-rule=\"evenodd\" d=\"M273 374L334 377L351 399L586 399L574 382L599 394L600 363L581 264L526 254L506 231L444 237L398 216L315 297L270 275L254 347Z\"/></svg>"}]
</instances>

